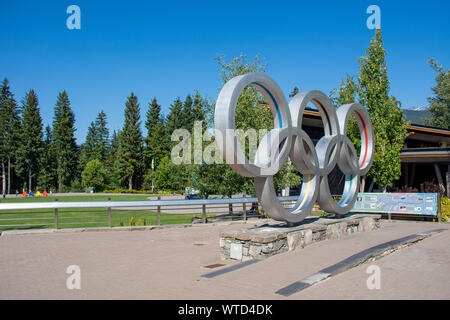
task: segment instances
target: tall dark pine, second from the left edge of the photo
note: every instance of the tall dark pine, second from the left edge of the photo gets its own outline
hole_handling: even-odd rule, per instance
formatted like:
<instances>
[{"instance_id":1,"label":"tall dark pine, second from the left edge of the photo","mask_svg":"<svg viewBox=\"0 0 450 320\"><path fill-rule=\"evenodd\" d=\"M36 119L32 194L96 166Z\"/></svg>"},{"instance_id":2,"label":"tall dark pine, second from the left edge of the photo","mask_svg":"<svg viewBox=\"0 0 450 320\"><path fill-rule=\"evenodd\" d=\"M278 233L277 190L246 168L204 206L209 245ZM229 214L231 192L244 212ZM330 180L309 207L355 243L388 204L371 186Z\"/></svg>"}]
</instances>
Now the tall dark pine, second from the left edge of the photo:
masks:
<instances>
[{"instance_id":1,"label":"tall dark pine, second from the left edge of the photo","mask_svg":"<svg viewBox=\"0 0 450 320\"><path fill-rule=\"evenodd\" d=\"M43 132L42 118L38 107L38 98L34 90L30 90L22 101L23 115L19 146L17 149L17 174L28 180L28 190L33 189L33 181L38 182L42 163Z\"/></svg>"}]
</instances>

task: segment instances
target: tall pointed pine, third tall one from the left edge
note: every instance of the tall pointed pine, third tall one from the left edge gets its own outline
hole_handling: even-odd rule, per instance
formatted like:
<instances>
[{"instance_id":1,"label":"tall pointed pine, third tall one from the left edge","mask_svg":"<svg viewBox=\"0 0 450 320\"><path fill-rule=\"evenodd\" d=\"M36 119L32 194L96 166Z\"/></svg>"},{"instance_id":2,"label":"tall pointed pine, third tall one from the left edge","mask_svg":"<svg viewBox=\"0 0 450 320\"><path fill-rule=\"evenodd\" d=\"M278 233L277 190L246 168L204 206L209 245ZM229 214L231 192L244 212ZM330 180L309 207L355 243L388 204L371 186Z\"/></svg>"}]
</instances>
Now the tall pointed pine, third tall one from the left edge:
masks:
<instances>
[{"instance_id":1,"label":"tall pointed pine, third tall one from the left edge","mask_svg":"<svg viewBox=\"0 0 450 320\"><path fill-rule=\"evenodd\" d=\"M64 90L59 93L53 118L53 138L56 152L58 191L68 188L77 175L77 152L75 142L75 116L70 100Z\"/></svg>"}]
</instances>

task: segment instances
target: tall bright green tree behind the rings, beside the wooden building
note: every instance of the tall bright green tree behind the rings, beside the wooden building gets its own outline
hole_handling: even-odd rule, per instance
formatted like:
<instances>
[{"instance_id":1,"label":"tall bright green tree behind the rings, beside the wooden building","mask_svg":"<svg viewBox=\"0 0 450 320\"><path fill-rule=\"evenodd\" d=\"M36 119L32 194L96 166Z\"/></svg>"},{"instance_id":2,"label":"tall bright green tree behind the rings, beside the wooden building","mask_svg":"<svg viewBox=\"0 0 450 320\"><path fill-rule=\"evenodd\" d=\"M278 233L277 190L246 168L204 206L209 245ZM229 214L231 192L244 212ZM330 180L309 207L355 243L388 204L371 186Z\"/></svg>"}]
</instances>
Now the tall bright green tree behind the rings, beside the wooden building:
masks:
<instances>
[{"instance_id":1,"label":"tall bright green tree behind the rings, beside the wooden building","mask_svg":"<svg viewBox=\"0 0 450 320\"><path fill-rule=\"evenodd\" d=\"M368 176L384 190L400 177L400 152L407 137L400 102L389 96L385 57L381 29L377 29L366 56L359 59L358 97L369 111L375 136L374 161Z\"/></svg>"}]
</instances>

